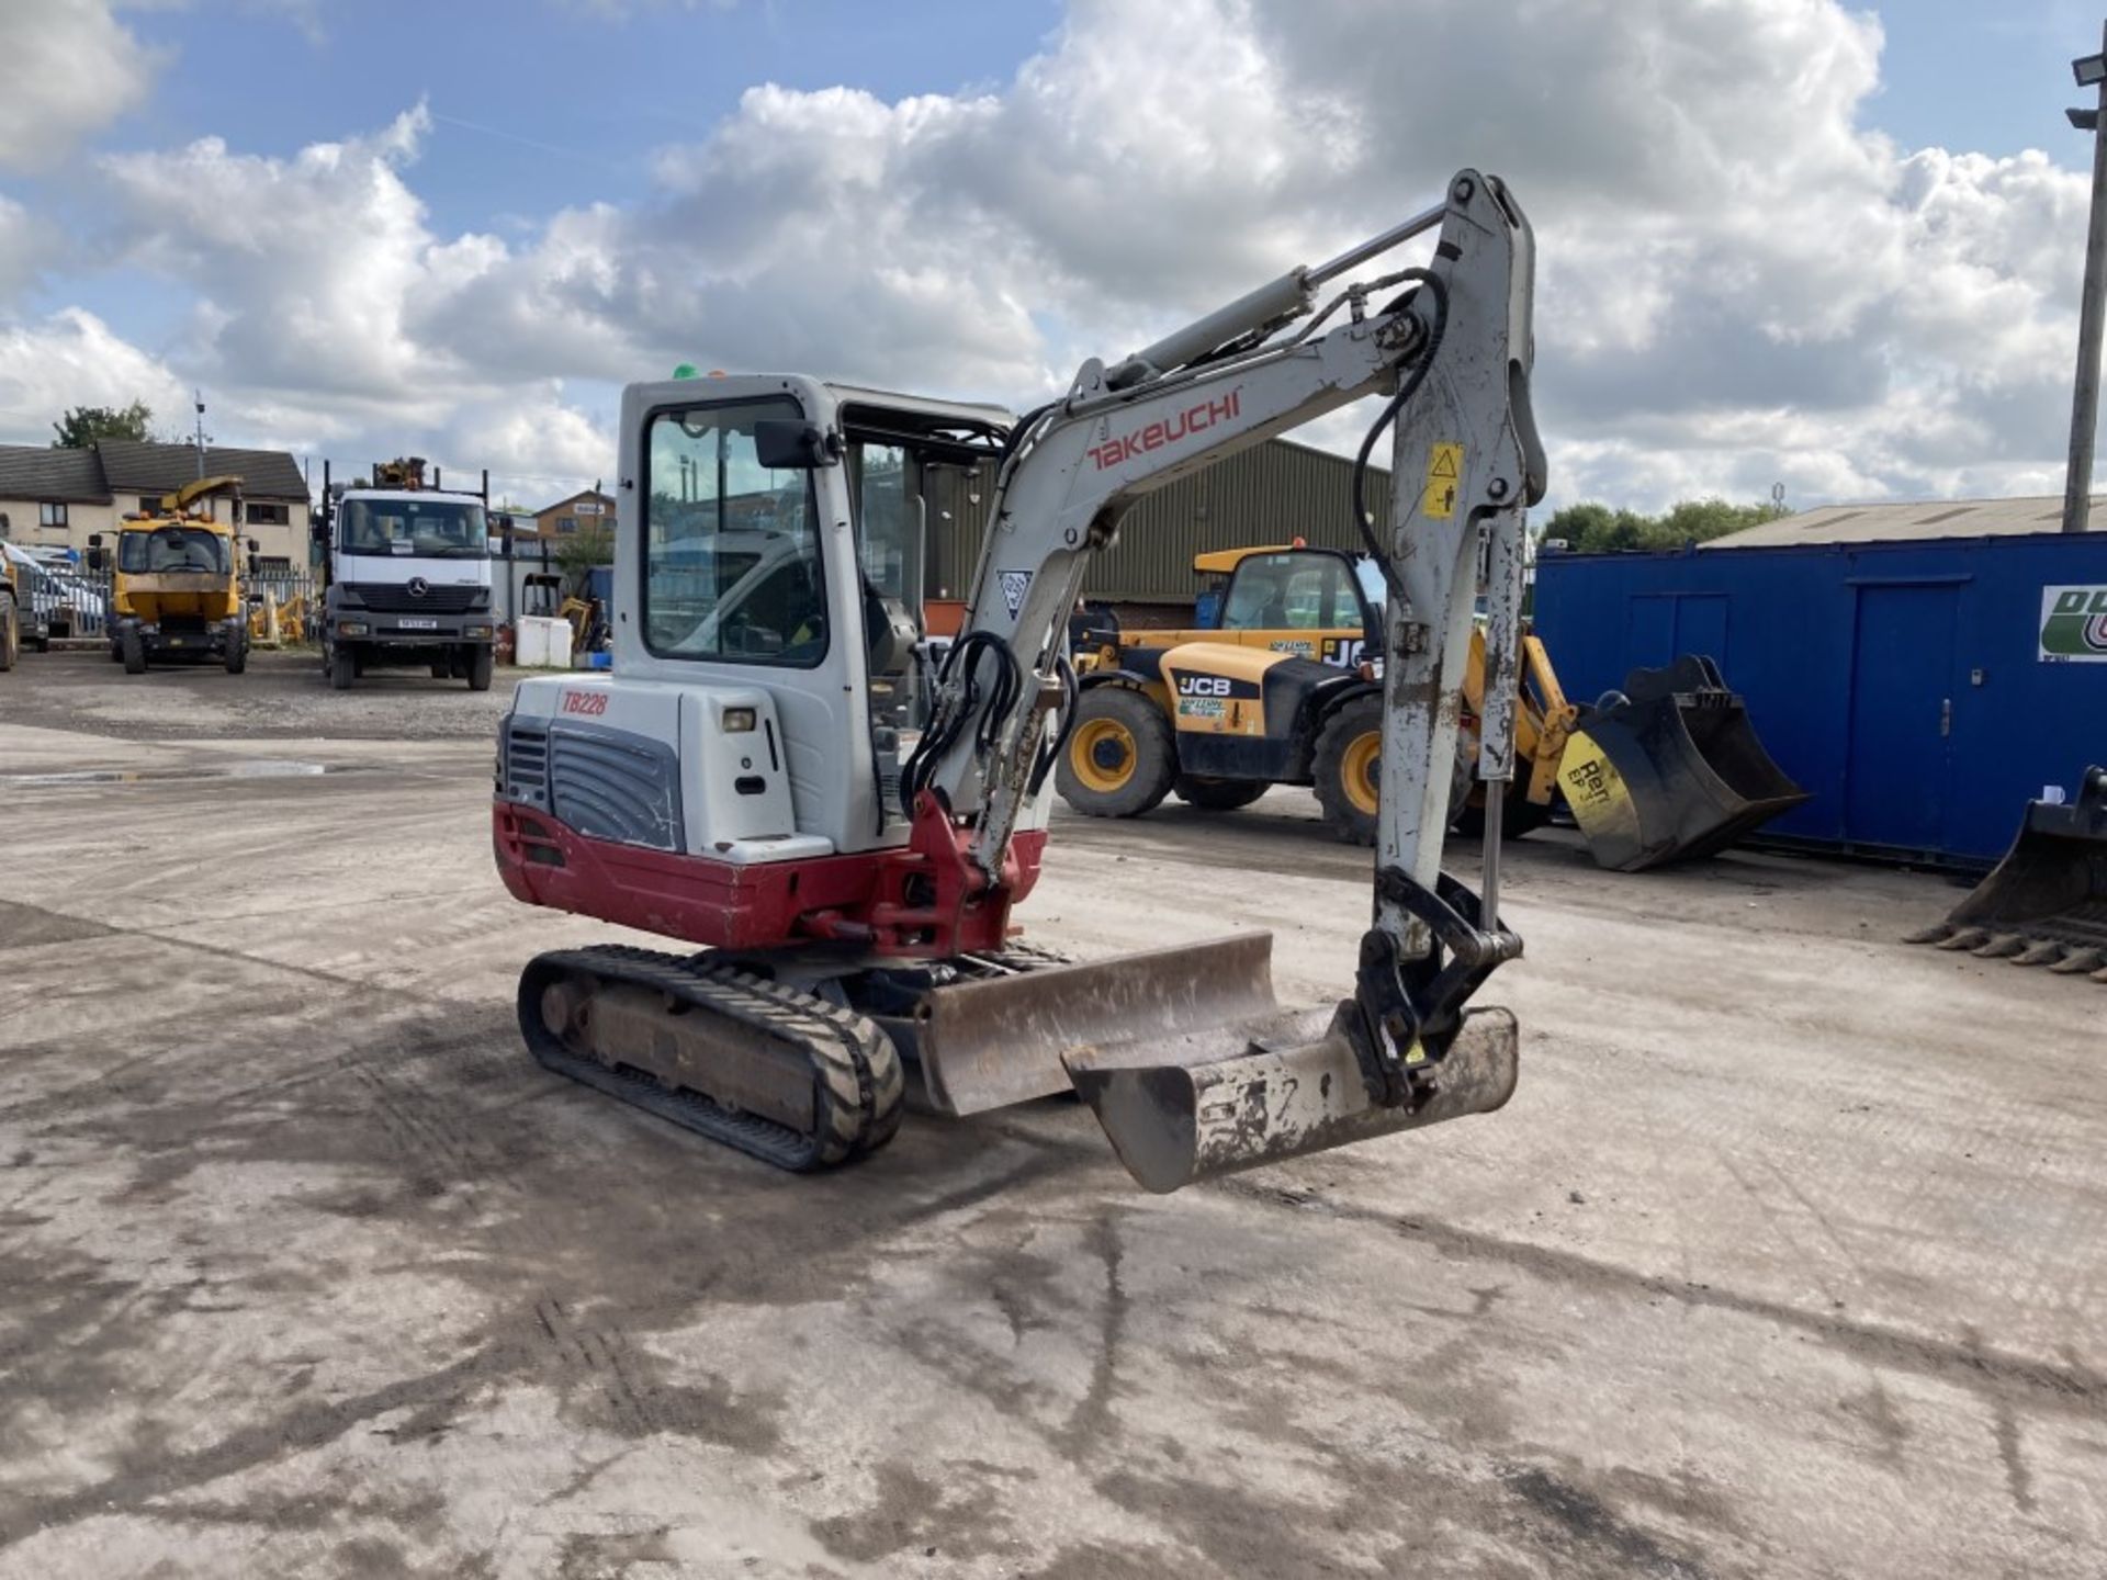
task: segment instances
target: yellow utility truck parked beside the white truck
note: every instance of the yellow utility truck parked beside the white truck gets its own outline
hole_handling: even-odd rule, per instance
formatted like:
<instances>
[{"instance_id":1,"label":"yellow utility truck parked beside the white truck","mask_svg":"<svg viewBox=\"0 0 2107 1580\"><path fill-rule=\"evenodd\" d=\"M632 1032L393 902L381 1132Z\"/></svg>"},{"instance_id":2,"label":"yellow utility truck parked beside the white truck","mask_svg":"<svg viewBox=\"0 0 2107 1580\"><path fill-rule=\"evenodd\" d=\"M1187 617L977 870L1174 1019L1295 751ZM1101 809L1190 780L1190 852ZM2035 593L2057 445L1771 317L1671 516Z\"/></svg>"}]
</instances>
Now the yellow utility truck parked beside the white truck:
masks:
<instances>
[{"instance_id":1,"label":"yellow utility truck parked beside the white truck","mask_svg":"<svg viewBox=\"0 0 2107 1580\"><path fill-rule=\"evenodd\" d=\"M126 674L169 659L217 661L228 674L247 668L249 611L236 565L242 544L232 522L211 518L211 499L240 499L240 485L234 476L185 482L162 497L160 510L124 516L114 548L101 533L88 537L88 567L114 571L110 657Z\"/></svg>"}]
</instances>

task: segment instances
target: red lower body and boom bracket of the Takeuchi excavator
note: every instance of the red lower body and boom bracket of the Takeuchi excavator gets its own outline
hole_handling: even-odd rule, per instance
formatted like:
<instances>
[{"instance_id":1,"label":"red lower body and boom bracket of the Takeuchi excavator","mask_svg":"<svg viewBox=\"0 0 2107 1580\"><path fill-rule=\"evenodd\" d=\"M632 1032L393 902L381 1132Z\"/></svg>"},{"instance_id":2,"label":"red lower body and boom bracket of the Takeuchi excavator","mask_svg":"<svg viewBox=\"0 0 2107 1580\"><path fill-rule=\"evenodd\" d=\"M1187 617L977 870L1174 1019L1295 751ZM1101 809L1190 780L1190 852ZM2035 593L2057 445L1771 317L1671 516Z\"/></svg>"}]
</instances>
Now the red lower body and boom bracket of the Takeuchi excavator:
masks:
<instances>
[{"instance_id":1,"label":"red lower body and boom bracket of the Takeuchi excavator","mask_svg":"<svg viewBox=\"0 0 2107 1580\"><path fill-rule=\"evenodd\" d=\"M904 849L735 866L588 838L510 801L491 807L497 872L516 900L729 950L811 940L900 956L1001 948L1009 906L1039 881L1045 830L1011 841L999 885L965 857L963 838L925 796Z\"/></svg>"}]
</instances>

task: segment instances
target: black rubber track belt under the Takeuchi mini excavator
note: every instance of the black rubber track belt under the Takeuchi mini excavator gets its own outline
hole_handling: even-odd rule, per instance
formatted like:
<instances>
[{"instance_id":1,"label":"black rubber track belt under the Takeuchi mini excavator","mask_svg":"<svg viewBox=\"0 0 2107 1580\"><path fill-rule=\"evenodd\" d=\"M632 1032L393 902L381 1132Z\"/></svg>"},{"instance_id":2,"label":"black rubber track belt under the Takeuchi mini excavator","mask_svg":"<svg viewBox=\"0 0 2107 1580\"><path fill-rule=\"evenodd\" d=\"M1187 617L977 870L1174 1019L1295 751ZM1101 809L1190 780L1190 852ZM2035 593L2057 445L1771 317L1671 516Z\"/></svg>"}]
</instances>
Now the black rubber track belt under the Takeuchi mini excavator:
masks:
<instances>
[{"instance_id":1,"label":"black rubber track belt under the Takeuchi mini excavator","mask_svg":"<svg viewBox=\"0 0 2107 1580\"><path fill-rule=\"evenodd\" d=\"M556 975L651 988L801 1049L813 1072L815 1129L801 1133L727 1108L700 1091L666 1087L641 1070L615 1070L590 1055L571 1053L541 1024L541 988ZM777 1169L807 1173L853 1163L877 1152L900 1129L906 1079L885 1032L853 1009L748 971L710 965L708 956L659 954L622 944L537 954L520 973L518 1020L527 1049L544 1068Z\"/></svg>"}]
</instances>

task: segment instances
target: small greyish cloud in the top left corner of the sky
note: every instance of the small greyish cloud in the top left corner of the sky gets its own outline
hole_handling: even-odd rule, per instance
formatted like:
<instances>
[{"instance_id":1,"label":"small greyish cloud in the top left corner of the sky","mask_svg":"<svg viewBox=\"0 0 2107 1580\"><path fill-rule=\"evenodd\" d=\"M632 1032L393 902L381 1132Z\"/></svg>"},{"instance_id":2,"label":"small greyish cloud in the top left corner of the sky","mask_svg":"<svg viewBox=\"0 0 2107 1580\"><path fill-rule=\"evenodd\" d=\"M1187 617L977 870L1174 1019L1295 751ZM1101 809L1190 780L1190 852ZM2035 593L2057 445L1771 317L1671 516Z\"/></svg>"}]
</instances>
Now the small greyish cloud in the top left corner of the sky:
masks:
<instances>
[{"instance_id":1,"label":"small greyish cloud in the top left corner of the sky","mask_svg":"<svg viewBox=\"0 0 2107 1580\"><path fill-rule=\"evenodd\" d=\"M82 137L137 105L156 65L107 0L0 4L0 171L57 164Z\"/></svg>"}]
</instances>

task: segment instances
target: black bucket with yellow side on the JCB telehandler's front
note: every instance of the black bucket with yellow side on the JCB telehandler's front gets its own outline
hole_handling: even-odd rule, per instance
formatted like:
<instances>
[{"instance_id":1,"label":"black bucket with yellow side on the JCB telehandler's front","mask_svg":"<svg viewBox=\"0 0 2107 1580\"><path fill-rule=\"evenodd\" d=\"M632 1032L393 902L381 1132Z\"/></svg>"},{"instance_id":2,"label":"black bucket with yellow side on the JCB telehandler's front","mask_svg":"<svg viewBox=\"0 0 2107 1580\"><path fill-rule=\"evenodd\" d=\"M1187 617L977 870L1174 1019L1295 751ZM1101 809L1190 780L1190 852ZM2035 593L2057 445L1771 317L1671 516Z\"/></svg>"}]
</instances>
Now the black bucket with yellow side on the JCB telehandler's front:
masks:
<instances>
[{"instance_id":1,"label":"black bucket with yellow side on the JCB telehandler's front","mask_svg":"<svg viewBox=\"0 0 2107 1580\"><path fill-rule=\"evenodd\" d=\"M1616 702L1580 718L1559 788L1612 872L1724 851L1808 798L1770 761L1719 666L1692 653L1633 670Z\"/></svg>"}]
</instances>

